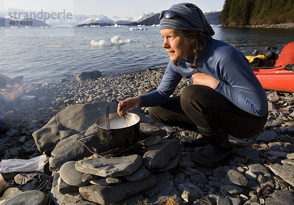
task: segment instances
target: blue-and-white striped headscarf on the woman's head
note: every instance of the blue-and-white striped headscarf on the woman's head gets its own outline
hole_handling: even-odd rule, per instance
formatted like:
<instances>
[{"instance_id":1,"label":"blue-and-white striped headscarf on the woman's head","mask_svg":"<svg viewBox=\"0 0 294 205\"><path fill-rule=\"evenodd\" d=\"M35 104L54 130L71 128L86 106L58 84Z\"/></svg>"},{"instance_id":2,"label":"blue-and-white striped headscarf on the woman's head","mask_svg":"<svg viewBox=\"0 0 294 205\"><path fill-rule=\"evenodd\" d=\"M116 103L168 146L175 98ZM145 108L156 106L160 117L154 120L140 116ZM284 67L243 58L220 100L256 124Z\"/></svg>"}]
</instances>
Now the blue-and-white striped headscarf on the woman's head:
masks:
<instances>
[{"instance_id":1,"label":"blue-and-white striped headscarf on the woman's head","mask_svg":"<svg viewBox=\"0 0 294 205\"><path fill-rule=\"evenodd\" d=\"M180 19L172 18L160 20L160 29L172 28L178 30L196 30L202 31L207 36L213 36L215 34L212 27L206 21L203 12L193 3L178 3L172 5L169 10L174 11L176 14L180 15L182 18L187 20L189 24Z\"/></svg>"}]
</instances>

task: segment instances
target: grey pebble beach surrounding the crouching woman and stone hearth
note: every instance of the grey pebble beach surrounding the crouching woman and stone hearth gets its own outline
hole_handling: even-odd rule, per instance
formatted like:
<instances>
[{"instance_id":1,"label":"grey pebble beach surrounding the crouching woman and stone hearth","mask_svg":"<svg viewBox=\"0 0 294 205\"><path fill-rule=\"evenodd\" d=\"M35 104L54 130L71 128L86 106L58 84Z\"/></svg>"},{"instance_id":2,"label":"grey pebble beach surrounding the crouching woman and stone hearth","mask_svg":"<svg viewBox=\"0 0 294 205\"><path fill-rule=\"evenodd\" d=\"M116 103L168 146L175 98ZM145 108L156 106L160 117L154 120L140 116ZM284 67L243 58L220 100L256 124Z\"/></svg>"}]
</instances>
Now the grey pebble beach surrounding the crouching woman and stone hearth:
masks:
<instances>
[{"instance_id":1,"label":"grey pebble beach surrounding the crouching woman and stone hearth","mask_svg":"<svg viewBox=\"0 0 294 205\"><path fill-rule=\"evenodd\" d=\"M145 70L80 81L69 76L58 83L26 85L23 96L11 104L13 112L2 127L0 159L29 159L42 155L43 152L41 153L38 149L32 134L43 128L61 110L73 104L123 100L148 93L157 88L164 71L165 69ZM183 79L174 95L180 94L188 84L190 82ZM191 148L179 146L182 157L177 166L154 173L148 170L154 174L148 175L149 178L152 176L150 179L152 185L155 183L154 176L156 177L156 185L148 190L142 190L142 193L127 198L119 204L294 204L294 95L276 91L266 92L269 101L269 117L264 130L260 135L245 140L231 137L230 141L235 148L235 155L231 160L216 169L206 168L189 159ZM142 114L147 115L148 109L143 107ZM168 138L175 131L174 128L159 124L153 123L152 126L166 131L161 132L163 138ZM180 130L180 134L193 136L194 133ZM180 140L180 137L178 136L177 139ZM202 147L196 148L199 151L202 149ZM49 166L50 163L47 160L43 173L1 174L9 187L18 188L21 191L41 190L48 193L54 201L53 198L58 192L57 179L64 180L67 177L62 177L63 174L60 171L58 174L57 171L52 171L52 163L51 169ZM71 167L74 167L73 162ZM79 170L84 170L81 165L75 164L75 168L77 167ZM60 169L61 172L63 169L65 167ZM56 177L59 174L61 178ZM113 181L119 183L117 181L120 181L120 177L119 179L116 179L114 175L111 177L115 178L111 179L112 183ZM124 176L123 180L125 178L127 177ZM103 178L104 181L106 179ZM98 186L95 185L96 189ZM122 186L119 185L119 187ZM88 186L80 189L82 189L80 192L85 192ZM54 194L51 194L52 192ZM67 194L68 190L59 190L59 192ZM132 192L136 193L136 190ZM77 200L78 197L73 196L73 198ZM93 198L89 197L89 199ZM54 202L57 201L60 203L62 200L55 199ZM82 199L81 201L83 204L93 204L91 200ZM73 200L62 202L60 204L78 204Z\"/></svg>"}]
</instances>

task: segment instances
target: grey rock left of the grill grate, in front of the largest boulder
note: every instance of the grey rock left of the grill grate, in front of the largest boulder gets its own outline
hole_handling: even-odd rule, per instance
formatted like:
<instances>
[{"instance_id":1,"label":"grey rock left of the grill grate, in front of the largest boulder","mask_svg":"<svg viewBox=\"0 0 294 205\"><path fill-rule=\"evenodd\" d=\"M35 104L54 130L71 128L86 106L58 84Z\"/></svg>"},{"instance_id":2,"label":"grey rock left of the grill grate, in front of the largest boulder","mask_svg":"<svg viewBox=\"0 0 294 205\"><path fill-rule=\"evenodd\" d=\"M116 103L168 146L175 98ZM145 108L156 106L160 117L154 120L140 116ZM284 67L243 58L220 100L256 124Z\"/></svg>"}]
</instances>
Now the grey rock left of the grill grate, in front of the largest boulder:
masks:
<instances>
[{"instance_id":1,"label":"grey rock left of the grill grate, in front of the largest boulder","mask_svg":"<svg viewBox=\"0 0 294 205\"><path fill-rule=\"evenodd\" d=\"M59 170L67 161L75 161L91 155L90 151L78 141L79 138L79 134L74 134L56 145L50 157L50 171Z\"/></svg>"}]
</instances>

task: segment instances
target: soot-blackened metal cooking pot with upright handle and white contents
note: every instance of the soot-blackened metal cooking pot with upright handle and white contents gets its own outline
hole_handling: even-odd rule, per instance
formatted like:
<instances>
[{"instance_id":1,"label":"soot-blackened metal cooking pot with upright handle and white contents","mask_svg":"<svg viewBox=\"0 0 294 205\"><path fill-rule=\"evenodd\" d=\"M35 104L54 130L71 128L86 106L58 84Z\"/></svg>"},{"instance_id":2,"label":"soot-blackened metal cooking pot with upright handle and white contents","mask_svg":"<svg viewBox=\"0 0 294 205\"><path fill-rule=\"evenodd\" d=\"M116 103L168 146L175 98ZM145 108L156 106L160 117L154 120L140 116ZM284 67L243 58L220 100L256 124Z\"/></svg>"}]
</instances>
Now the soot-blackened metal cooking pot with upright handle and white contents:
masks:
<instances>
[{"instance_id":1,"label":"soot-blackened metal cooking pot with upright handle and white contents","mask_svg":"<svg viewBox=\"0 0 294 205\"><path fill-rule=\"evenodd\" d=\"M99 142L109 148L124 147L137 142L140 137L140 117L134 113L127 113L127 126L118 113L109 114L110 105L111 103L108 103L105 116L96 121ZM115 127L114 123L118 121L122 121L121 125Z\"/></svg>"}]
</instances>

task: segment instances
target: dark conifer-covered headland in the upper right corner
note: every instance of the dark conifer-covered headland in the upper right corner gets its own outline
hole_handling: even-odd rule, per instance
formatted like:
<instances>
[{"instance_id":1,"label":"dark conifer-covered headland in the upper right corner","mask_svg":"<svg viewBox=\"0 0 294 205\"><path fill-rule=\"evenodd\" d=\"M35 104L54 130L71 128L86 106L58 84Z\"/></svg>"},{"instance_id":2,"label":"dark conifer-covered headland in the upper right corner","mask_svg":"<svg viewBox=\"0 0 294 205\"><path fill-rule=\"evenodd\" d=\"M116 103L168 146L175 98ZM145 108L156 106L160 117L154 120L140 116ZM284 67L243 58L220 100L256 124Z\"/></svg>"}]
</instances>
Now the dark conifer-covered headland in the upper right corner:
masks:
<instances>
[{"instance_id":1,"label":"dark conifer-covered headland in the upper right corner","mask_svg":"<svg viewBox=\"0 0 294 205\"><path fill-rule=\"evenodd\" d=\"M294 0L225 0L223 26L294 23Z\"/></svg>"}]
</instances>

